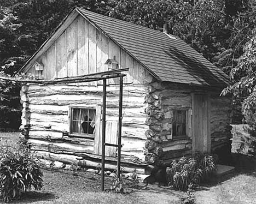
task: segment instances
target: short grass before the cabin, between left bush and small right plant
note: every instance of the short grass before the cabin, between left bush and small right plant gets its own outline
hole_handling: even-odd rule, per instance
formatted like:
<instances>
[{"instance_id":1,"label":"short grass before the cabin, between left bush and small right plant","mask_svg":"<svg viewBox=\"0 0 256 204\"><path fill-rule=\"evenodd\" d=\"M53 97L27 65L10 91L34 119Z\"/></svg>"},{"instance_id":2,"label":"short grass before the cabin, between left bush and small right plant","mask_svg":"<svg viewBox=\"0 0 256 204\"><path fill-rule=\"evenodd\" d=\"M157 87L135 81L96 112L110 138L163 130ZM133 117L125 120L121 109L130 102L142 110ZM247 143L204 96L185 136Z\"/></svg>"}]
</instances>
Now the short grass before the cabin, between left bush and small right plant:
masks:
<instances>
[{"instance_id":1,"label":"short grass before the cabin, between left bush and small right plant","mask_svg":"<svg viewBox=\"0 0 256 204\"><path fill-rule=\"evenodd\" d=\"M141 189L144 183L131 187L131 181L124 179L126 194L109 192L113 177L105 177L106 194L101 193L101 176L95 173L78 171L75 176L71 171L44 172L44 186L42 191L27 192L22 199L14 203L55 204L55 203L129 203L129 204L180 204L179 195L182 192L168 187L148 185ZM127 184L127 185L126 185ZM94 197L100 197L97 201ZM91 200L90 200L91 199ZM0 201L1 203L1 201Z\"/></svg>"}]
</instances>

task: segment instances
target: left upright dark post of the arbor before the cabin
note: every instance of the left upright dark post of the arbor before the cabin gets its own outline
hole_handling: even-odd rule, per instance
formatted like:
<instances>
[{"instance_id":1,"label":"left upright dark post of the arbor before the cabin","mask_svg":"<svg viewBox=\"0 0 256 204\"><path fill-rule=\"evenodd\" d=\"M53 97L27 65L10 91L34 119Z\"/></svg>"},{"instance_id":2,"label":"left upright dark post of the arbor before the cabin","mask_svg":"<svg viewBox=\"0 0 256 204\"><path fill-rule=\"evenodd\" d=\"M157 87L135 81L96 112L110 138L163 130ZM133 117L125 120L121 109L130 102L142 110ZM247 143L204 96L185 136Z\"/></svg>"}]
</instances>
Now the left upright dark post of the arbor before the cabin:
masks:
<instances>
[{"instance_id":1,"label":"left upright dark post of the arbor before the cabin","mask_svg":"<svg viewBox=\"0 0 256 204\"><path fill-rule=\"evenodd\" d=\"M102 151L101 151L101 191L104 191L105 179L105 138L106 138L106 89L107 80L103 80L103 100L102 100Z\"/></svg>"}]
</instances>

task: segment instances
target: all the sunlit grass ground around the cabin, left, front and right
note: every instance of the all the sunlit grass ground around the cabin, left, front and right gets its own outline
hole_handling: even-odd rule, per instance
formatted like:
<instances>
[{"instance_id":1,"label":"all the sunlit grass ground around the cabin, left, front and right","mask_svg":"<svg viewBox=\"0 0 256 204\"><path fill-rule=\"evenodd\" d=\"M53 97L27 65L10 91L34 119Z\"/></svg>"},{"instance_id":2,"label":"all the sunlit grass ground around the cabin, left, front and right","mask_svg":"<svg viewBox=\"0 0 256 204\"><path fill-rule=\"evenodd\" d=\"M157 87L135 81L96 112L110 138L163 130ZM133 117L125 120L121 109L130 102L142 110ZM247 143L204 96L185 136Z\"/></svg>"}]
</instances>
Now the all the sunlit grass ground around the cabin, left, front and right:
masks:
<instances>
[{"instance_id":1,"label":"all the sunlit grass ground around the cabin, left, front and right","mask_svg":"<svg viewBox=\"0 0 256 204\"><path fill-rule=\"evenodd\" d=\"M19 133L0 133L2 142L18 147ZM5 141L7 140L7 141ZM28 192L22 200L14 203L154 203L154 204L181 204L181 191L167 187L148 185L144 190L134 189L129 194L102 193L100 191L100 175L89 172L78 172L73 176L70 171L43 170L44 187L42 191ZM106 189L111 184L110 177L106 177ZM201 187L194 193L197 204L233 204L256 203L256 173L233 173L223 182L213 183ZM2 203L0 201L0 203Z\"/></svg>"}]
</instances>

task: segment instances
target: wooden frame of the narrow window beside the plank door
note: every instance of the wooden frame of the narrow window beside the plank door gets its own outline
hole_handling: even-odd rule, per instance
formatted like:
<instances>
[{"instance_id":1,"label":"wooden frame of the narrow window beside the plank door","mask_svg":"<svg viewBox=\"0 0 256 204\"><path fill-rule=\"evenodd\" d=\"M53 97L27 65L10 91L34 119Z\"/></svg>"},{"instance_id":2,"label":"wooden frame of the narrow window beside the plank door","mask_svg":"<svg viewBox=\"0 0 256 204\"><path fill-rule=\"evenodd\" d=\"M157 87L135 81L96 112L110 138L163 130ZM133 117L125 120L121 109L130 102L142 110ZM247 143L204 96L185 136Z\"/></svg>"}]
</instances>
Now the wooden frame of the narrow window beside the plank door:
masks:
<instances>
[{"instance_id":1,"label":"wooden frame of the narrow window beside the plank door","mask_svg":"<svg viewBox=\"0 0 256 204\"><path fill-rule=\"evenodd\" d=\"M185 135L174 135L173 134L173 118L174 118L174 112L177 111L185 111L186 115L186 120L185 120L185 130L186 134ZM191 117L192 117L192 110L191 109L173 109L173 118L172 118L172 140L181 140L181 139L191 139Z\"/></svg>"}]
</instances>

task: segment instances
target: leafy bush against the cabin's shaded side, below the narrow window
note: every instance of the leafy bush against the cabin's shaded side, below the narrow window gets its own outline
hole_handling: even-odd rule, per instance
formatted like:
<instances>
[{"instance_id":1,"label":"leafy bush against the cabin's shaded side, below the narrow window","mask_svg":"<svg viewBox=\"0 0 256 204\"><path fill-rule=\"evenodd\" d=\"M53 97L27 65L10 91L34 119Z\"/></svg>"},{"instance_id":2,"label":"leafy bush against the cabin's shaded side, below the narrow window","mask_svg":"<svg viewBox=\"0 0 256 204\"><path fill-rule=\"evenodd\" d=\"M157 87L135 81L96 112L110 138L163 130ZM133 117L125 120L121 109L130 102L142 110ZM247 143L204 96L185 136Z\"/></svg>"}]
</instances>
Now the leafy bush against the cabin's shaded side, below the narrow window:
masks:
<instances>
[{"instance_id":1,"label":"leafy bush against the cabin's shaded side, below the narrow window","mask_svg":"<svg viewBox=\"0 0 256 204\"><path fill-rule=\"evenodd\" d=\"M173 160L166 169L167 182L174 189L187 190L208 178L215 170L216 159L212 155L196 154L195 157L182 157Z\"/></svg>"}]
</instances>

